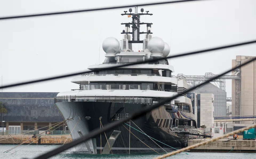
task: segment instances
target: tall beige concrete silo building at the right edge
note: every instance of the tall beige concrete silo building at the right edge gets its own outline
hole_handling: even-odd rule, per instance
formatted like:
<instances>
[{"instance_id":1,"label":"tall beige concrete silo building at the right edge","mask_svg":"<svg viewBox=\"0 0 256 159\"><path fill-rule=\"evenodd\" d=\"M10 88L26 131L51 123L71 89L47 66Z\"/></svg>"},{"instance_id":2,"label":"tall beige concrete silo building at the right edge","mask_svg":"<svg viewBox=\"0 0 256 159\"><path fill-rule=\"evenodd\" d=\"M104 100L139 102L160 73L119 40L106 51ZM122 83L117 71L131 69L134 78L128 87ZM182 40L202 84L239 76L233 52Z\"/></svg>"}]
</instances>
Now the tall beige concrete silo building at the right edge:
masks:
<instances>
[{"instance_id":1,"label":"tall beige concrete silo building at the right edge","mask_svg":"<svg viewBox=\"0 0 256 159\"><path fill-rule=\"evenodd\" d=\"M254 56L236 56L232 67L247 62ZM232 80L232 115L256 115L256 62L251 62L232 72L241 79ZM241 123L251 123L242 121Z\"/></svg>"}]
</instances>

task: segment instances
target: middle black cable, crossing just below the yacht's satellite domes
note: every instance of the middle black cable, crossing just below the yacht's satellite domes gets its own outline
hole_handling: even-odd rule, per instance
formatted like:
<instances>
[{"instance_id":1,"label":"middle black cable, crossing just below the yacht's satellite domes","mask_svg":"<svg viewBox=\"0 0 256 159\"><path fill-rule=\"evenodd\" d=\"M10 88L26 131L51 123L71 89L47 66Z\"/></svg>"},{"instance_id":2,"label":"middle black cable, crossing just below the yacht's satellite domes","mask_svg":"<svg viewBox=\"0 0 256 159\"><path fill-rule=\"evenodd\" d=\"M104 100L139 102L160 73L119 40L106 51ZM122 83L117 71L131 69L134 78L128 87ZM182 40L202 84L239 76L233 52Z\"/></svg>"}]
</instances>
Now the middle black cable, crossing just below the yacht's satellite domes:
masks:
<instances>
[{"instance_id":1,"label":"middle black cable, crossing just below the yacht's satellite domes","mask_svg":"<svg viewBox=\"0 0 256 159\"><path fill-rule=\"evenodd\" d=\"M122 65L121 64L116 64L116 66L106 65L106 66L110 66L110 67L99 68L97 71L113 70L115 68L124 67L124 66L132 66L132 65L135 65L135 64L142 64L142 63L151 63L151 62L156 62L156 61L162 60L162 59L171 59L171 58L177 58L177 57L182 57L182 56L187 56L187 55L200 54L200 53L203 53L203 52L221 50L221 49L225 49L225 48L237 47L237 46L242 46L242 45L247 45L247 44L252 44L252 43L256 43L256 40L242 42L242 43L235 43L235 44L225 45L225 46L220 46L220 47L213 47L213 48L198 50L198 51L194 51L194 52L187 52L187 53L183 53L183 54L169 56L169 57L166 57L166 58L145 60L145 61L141 61L141 62L128 63L128 64L122 64ZM86 74L86 73L90 73L90 72L93 72L93 71L83 71L83 72L77 72L77 73L73 73L73 74L66 74L66 75L61 75L61 76L42 78L42 79L39 79L39 80L31 80L31 81L26 81L26 82L21 82L21 83L9 84L9 85L4 85L4 86L0 87L0 89L19 86L19 85L25 85L25 84L31 84L31 83L37 83L37 82L43 82L43 81L48 81L48 80L54 80L54 79L59 79L59 78L65 78L65 77L70 77L70 76L75 76L75 75L81 75L81 74Z\"/></svg>"}]
</instances>

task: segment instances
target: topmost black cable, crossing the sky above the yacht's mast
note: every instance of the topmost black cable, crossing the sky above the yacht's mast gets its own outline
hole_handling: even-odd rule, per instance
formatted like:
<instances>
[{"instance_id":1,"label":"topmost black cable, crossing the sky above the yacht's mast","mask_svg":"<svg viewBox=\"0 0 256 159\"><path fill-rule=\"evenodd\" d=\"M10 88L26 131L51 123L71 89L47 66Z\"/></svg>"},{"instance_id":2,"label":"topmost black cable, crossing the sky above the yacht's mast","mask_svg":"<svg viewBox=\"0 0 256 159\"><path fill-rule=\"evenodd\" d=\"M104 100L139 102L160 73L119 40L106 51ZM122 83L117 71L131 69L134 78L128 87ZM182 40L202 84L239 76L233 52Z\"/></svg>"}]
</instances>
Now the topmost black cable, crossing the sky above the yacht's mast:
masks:
<instances>
[{"instance_id":1,"label":"topmost black cable, crossing the sky above the yacht's mast","mask_svg":"<svg viewBox=\"0 0 256 159\"><path fill-rule=\"evenodd\" d=\"M0 20L14 19L14 18L26 18L26 17L38 17L38 16L46 16L46 15L57 15L57 14L79 13L79 12L89 12L89 11L118 9L118 8L128 8L128 7L135 7L135 6L163 5L163 4L170 4L170 3L190 2L190 1L209 1L209 0L181 0L181 1L156 2L156 3L142 3L142 4L134 4L134 5L115 6L115 7L103 7L103 8L94 8L94 9L71 10L71 11L51 12L51 13L42 13L42 14L29 14L29 15L0 17Z\"/></svg>"}]
</instances>

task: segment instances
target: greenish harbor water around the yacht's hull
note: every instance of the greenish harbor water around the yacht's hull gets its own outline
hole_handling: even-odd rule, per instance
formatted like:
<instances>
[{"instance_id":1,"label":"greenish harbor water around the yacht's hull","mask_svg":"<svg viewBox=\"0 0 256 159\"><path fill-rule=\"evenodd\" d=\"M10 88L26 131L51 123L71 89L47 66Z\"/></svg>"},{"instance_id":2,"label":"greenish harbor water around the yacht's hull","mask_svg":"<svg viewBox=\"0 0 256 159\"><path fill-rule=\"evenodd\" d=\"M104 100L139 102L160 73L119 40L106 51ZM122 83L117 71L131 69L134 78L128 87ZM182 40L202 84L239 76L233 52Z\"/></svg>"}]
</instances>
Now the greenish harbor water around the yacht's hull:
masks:
<instances>
[{"instance_id":1,"label":"greenish harbor water around the yacht's hull","mask_svg":"<svg viewBox=\"0 0 256 159\"><path fill-rule=\"evenodd\" d=\"M16 145L0 145L0 151L5 152L8 149L13 148ZM25 147L26 146L26 147ZM34 158L42 153L46 153L49 150L57 148L59 145L21 145L14 150L11 150L7 153L1 153L0 158L4 159L19 159L19 158ZM14 153L15 152L15 153ZM12 154L13 153L13 154ZM157 157L158 154L151 153L151 154L85 154L82 152L75 151L74 148L66 150L54 157L54 159L99 159L99 158L125 158L125 159L146 159L146 158L154 158ZM255 153L207 153L207 152L188 152L188 154L180 153L175 156L171 156L168 158L175 158L175 159L205 159L205 158L218 158L218 159L240 159L240 158L255 158Z\"/></svg>"}]
</instances>

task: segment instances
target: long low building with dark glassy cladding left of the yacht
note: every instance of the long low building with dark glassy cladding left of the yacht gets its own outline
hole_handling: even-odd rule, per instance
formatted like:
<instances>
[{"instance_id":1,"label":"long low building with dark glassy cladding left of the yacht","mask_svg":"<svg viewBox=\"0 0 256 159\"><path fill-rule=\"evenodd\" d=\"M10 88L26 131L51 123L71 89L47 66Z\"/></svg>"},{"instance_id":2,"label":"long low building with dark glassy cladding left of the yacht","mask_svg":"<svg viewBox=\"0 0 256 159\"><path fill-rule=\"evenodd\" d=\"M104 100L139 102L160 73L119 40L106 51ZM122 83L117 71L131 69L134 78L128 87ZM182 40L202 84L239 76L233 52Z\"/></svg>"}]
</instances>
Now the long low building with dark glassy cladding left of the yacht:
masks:
<instances>
[{"instance_id":1,"label":"long low building with dark glassy cladding left of the yacht","mask_svg":"<svg viewBox=\"0 0 256 159\"><path fill-rule=\"evenodd\" d=\"M62 115L54 105L57 92L0 92L0 101L7 109L0 112L0 126L6 130L34 130L63 121ZM0 104L1 107L1 104ZM2 118L3 117L3 118ZM59 127L56 130L63 130Z\"/></svg>"}]
</instances>

